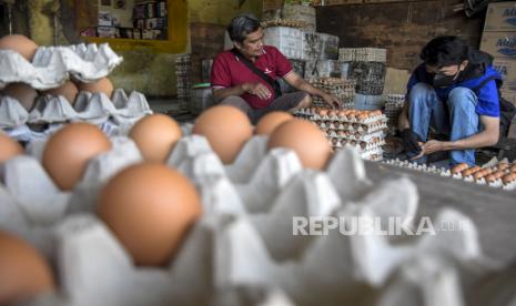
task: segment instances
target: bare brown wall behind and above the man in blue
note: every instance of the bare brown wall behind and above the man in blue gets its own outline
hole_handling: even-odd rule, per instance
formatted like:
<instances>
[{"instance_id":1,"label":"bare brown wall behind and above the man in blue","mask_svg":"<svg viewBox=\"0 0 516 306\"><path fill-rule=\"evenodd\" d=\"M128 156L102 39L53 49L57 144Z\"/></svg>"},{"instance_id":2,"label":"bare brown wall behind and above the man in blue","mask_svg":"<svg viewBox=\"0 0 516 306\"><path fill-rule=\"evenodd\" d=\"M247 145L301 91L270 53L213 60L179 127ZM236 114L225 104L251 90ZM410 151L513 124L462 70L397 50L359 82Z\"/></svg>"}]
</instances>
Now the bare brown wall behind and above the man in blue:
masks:
<instances>
[{"instance_id":1,"label":"bare brown wall behind and above the man in blue","mask_svg":"<svg viewBox=\"0 0 516 306\"><path fill-rule=\"evenodd\" d=\"M454 0L363 3L317 8L317 31L338 35L341 47L386 48L387 64L414 69L419 51L438 34L453 34L478 48L485 12L454 13Z\"/></svg>"}]
</instances>

